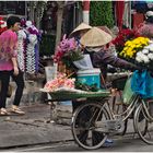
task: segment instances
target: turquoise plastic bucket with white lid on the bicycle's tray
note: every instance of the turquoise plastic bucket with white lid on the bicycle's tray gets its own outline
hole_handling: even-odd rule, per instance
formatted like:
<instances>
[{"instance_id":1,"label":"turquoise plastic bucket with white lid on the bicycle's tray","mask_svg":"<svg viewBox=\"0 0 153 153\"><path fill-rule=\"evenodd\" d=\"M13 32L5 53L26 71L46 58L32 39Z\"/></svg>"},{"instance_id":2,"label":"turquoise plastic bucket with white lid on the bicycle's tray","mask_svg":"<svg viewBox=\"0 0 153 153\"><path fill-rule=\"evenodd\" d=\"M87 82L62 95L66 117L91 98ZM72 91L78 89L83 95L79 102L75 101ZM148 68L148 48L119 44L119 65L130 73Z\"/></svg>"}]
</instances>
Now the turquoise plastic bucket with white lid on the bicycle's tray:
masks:
<instances>
[{"instance_id":1,"label":"turquoise plastic bucket with white lid on the bicycle's tray","mask_svg":"<svg viewBox=\"0 0 153 153\"><path fill-rule=\"evenodd\" d=\"M101 70L91 69L91 70L79 70L76 73L76 80L81 83L93 85L96 84L96 87L101 86Z\"/></svg>"}]
</instances>

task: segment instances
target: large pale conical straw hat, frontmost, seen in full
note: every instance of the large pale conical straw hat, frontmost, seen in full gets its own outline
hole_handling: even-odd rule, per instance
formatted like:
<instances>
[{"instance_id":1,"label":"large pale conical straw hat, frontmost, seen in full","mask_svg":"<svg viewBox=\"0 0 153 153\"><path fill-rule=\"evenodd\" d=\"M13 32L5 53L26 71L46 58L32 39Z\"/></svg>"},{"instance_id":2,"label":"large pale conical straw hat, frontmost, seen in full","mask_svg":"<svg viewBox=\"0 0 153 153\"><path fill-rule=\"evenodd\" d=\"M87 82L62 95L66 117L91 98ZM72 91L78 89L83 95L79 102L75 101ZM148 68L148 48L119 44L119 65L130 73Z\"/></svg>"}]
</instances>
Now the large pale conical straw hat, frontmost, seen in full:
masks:
<instances>
[{"instance_id":1,"label":"large pale conical straw hat, frontmost, seen in full","mask_svg":"<svg viewBox=\"0 0 153 153\"><path fill-rule=\"evenodd\" d=\"M80 39L80 43L85 47L99 47L108 44L113 37L97 27L92 27Z\"/></svg>"}]
</instances>

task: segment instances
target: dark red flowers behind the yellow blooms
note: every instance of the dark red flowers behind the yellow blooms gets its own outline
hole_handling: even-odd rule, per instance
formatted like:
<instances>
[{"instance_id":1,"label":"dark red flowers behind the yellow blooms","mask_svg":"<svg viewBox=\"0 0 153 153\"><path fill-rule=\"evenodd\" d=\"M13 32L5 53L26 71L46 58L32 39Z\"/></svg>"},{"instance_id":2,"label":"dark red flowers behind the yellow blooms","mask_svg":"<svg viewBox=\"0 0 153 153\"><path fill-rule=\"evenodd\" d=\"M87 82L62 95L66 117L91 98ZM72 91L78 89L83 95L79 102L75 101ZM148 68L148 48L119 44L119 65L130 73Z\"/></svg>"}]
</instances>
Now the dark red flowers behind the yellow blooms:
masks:
<instances>
[{"instance_id":1,"label":"dark red flowers behind the yellow blooms","mask_svg":"<svg viewBox=\"0 0 153 153\"><path fill-rule=\"evenodd\" d=\"M122 30L111 43L115 45L116 51L120 52L127 40L134 39L139 36L139 33L134 30Z\"/></svg>"}]
</instances>

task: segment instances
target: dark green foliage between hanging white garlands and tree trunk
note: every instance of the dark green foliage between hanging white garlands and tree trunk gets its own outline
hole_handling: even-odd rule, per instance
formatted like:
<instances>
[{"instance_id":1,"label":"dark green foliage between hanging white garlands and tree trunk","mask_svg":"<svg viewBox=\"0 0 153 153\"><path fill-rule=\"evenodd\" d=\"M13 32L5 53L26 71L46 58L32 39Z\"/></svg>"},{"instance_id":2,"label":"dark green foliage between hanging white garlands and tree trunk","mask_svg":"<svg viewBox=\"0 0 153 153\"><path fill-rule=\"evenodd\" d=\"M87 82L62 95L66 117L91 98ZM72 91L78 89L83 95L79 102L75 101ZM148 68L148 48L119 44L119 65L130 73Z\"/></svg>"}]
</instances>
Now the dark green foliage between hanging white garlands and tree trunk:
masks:
<instances>
[{"instance_id":1,"label":"dark green foliage between hanging white garlands and tree trunk","mask_svg":"<svg viewBox=\"0 0 153 153\"><path fill-rule=\"evenodd\" d=\"M51 56L55 54L55 42L56 36L54 35L43 35L40 45L39 45L39 55L40 56Z\"/></svg>"}]
</instances>

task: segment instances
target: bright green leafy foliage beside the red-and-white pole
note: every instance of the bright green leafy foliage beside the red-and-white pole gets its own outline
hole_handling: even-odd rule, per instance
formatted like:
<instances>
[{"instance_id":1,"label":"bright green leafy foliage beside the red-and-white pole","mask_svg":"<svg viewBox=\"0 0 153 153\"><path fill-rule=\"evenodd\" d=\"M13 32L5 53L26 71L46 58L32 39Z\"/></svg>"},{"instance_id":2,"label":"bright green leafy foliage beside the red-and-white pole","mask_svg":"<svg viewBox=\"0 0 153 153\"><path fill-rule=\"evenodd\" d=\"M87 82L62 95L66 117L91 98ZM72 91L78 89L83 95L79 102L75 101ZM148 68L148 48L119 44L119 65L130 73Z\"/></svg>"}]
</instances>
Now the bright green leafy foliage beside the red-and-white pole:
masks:
<instances>
[{"instance_id":1,"label":"bright green leafy foliage beside the red-and-white pole","mask_svg":"<svg viewBox=\"0 0 153 153\"><path fill-rule=\"evenodd\" d=\"M114 26L113 2L91 1L90 24L92 26Z\"/></svg>"}]
</instances>

